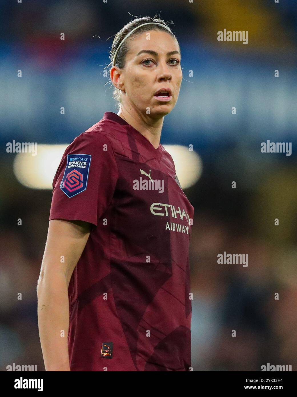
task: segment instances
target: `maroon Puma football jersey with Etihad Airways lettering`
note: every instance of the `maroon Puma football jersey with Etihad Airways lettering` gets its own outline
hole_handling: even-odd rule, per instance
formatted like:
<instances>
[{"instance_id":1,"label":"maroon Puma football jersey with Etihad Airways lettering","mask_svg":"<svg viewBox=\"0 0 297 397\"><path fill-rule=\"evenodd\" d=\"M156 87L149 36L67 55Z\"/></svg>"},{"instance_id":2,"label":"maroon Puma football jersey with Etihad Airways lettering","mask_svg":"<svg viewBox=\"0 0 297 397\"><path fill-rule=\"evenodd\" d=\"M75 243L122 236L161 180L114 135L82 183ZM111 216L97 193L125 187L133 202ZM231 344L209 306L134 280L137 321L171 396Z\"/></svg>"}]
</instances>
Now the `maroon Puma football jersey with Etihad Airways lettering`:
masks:
<instances>
[{"instance_id":1,"label":"maroon Puma football jersey with Etihad Airways lettering","mask_svg":"<svg viewBox=\"0 0 297 397\"><path fill-rule=\"evenodd\" d=\"M67 147L51 219L92 231L68 289L71 371L187 371L194 208L170 154L113 112Z\"/></svg>"}]
</instances>

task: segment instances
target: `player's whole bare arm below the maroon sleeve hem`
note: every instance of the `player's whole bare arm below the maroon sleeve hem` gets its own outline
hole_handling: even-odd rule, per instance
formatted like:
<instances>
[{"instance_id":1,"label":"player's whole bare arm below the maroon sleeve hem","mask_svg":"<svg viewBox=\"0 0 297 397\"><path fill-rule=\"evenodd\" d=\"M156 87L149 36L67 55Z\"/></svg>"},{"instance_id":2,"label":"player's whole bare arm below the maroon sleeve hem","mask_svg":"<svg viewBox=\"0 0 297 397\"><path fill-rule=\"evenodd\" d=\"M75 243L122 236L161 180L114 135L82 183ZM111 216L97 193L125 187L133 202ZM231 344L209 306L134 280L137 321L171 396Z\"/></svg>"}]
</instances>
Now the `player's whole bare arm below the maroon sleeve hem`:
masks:
<instances>
[{"instance_id":1,"label":"player's whole bare arm below the maroon sleeve hem","mask_svg":"<svg viewBox=\"0 0 297 397\"><path fill-rule=\"evenodd\" d=\"M39 337L46 371L70 371L68 286L90 231L91 224L82 221L53 219L49 223L37 284ZM62 330L65 336L61 336Z\"/></svg>"}]
</instances>

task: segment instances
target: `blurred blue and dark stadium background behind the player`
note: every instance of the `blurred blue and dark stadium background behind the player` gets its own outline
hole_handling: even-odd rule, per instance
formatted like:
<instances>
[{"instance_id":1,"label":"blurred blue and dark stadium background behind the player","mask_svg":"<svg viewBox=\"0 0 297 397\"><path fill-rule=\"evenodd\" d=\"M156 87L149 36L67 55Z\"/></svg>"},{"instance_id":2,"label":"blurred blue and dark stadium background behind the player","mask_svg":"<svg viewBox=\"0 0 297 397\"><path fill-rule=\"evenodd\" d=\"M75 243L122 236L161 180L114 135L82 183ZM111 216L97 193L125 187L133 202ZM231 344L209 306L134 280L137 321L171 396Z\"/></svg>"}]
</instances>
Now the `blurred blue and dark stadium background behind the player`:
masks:
<instances>
[{"instance_id":1,"label":"blurred blue and dark stadium background behind the player","mask_svg":"<svg viewBox=\"0 0 297 397\"><path fill-rule=\"evenodd\" d=\"M182 54L184 79L161 143L175 145L168 151L195 207L193 368L260 371L270 362L297 370L296 2L28 0L1 6L0 370L13 362L44 370L36 285L52 196L48 180L63 148L104 112L118 112L104 75L113 36L133 17L159 12L174 22ZM249 43L218 42L224 28L249 31ZM13 140L37 142L40 153L7 153ZM261 153L267 140L291 142L291 156ZM195 161L181 162L191 155L182 156L181 146L189 145ZM219 265L224 251L248 253L249 266Z\"/></svg>"}]
</instances>

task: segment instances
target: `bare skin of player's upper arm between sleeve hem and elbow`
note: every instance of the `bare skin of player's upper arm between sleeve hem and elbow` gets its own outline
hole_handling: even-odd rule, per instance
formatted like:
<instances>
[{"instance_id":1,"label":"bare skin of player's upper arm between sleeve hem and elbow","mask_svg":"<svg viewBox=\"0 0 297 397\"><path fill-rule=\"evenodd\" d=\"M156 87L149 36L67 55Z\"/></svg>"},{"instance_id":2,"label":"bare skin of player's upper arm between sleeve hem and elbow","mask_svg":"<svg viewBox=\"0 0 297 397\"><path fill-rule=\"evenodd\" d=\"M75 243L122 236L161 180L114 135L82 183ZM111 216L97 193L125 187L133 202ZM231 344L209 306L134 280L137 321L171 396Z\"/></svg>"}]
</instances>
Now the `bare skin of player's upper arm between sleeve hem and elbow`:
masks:
<instances>
[{"instance_id":1,"label":"bare skin of player's upper arm between sleeve hem and elbow","mask_svg":"<svg viewBox=\"0 0 297 397\"><path fill-rule=\"evenodd\" d=\"M63 274L68 286L90 231L91 224L88 222L50 220L40 278L48 274Z\"/></svg>"}]
</instances>

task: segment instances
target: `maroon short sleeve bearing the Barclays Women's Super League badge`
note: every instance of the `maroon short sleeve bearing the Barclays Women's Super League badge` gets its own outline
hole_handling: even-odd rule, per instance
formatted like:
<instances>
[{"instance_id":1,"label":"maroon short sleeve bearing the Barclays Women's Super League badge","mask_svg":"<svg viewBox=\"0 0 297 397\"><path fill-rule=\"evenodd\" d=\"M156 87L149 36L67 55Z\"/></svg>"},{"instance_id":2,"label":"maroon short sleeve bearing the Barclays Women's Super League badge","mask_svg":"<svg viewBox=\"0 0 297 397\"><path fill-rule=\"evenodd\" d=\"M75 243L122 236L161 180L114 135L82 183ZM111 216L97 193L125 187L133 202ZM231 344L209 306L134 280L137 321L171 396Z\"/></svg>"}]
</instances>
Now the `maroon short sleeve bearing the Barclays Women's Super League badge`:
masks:
<instances>
[{"instance_id":1,"label":"maroon short sleeve bearing the Barclays Women's Super League badge","mask_svg":"<svg viewBox=\"0 0 297 397\"><path fill-rule=\"evenodd\" d=\"M100 132L82 133L66 148L54 176L49 220L81 220L97 226L117 180L110 140Z\"/></svg>"}]
</instances>

